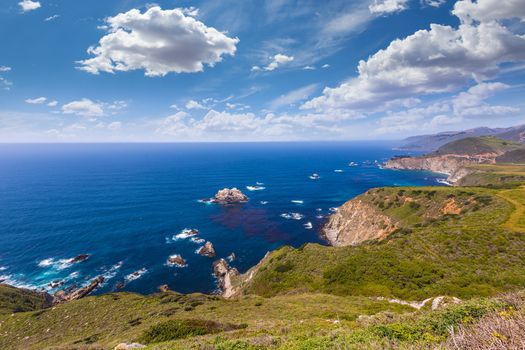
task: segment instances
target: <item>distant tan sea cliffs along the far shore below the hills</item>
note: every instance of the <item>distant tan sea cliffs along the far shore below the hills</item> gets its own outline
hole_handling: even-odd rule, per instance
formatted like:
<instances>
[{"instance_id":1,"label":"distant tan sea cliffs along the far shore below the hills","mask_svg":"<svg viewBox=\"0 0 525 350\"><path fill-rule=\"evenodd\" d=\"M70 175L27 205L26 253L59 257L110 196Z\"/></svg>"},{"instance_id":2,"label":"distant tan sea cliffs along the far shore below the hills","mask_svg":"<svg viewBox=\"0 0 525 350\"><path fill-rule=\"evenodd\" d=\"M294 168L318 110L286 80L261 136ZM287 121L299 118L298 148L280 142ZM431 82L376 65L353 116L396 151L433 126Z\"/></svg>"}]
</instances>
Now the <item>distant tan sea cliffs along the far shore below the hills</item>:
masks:
<instances>
[{"instance_id":1,"label":"distant tan sea cliffs along the far shore below the hills","mask_svg":"<svg viewBox=\"0 0 525 350\"><path fill-rule=\"evenodd\" d=\"M467 168L472 164L494 163L496 154L466 156L466 155L441 155L421 157L394 157L384 164L387 169L397 170L427 170L448 175L447 181L455 184L472 171Z\"/></svg>"}]
</instances>

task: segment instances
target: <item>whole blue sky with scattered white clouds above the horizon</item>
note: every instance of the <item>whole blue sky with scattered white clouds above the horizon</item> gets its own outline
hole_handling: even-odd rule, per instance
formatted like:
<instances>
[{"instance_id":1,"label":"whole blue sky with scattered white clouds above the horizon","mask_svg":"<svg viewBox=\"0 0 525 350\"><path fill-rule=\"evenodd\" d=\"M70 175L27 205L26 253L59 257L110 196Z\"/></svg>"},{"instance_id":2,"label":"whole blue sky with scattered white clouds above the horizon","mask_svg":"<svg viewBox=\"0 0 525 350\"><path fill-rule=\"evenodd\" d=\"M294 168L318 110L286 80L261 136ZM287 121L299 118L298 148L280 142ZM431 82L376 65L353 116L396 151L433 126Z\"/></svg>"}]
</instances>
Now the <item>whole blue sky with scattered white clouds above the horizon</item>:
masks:
<instances>
[{"instance_id":1,"label":"whole blue sky with scattered white clouds above the horizon","mask_svg":"<svg viewBox=\"0 0 525 350\"><path fill-rule=\"evenodd\" d=\"M525 0L2 0L0 142L525 124Z\"/></svg>"}]
</instances>

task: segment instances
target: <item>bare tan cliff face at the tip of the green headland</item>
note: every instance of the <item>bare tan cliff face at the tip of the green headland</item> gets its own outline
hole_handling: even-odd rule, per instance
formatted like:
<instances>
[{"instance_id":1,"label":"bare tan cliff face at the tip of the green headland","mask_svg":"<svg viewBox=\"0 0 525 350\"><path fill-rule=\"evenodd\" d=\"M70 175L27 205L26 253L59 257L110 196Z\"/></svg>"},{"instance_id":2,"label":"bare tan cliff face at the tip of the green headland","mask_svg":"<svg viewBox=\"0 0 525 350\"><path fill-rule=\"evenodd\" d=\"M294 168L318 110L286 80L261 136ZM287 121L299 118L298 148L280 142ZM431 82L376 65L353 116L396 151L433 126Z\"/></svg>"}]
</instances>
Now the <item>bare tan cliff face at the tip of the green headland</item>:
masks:
<instances>
[{"instance_id":1,"label":"bare tan cliff face at the tip of the green headland","mask_svg":"<svg viewBox=\"0 0 525 350\"><path fill-rule=\"evenodd\" d=\"M381 240L398 228L394 219L357 197L330 216L323 234L331 245L340 247Z\"/></svg>"}]
</instances>

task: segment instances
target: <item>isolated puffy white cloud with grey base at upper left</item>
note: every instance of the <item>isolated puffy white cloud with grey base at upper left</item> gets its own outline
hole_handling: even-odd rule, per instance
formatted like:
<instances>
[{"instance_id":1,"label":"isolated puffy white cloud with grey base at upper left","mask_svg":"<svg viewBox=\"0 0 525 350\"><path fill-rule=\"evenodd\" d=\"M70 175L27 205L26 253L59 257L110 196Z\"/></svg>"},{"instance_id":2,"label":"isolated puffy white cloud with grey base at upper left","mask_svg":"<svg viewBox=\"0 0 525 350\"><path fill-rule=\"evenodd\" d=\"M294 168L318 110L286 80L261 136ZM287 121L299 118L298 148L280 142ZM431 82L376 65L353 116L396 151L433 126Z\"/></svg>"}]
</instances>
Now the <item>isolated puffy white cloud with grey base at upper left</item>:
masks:
<instances>
[{"instance_id":1,"label":"isolated puffy white cloud with grey base at upper left","mask_svg":"<svg viewBox=\"0 0 525 350\"><path fill-rule=\"evenodd\" d=\"M107 34L88 49L95 57L79 61L79 69L93 74L143 69L150 77L201 72L233 56L239 42L181 9L133 9L106 23Z\"/></svg>"}]
</instances>

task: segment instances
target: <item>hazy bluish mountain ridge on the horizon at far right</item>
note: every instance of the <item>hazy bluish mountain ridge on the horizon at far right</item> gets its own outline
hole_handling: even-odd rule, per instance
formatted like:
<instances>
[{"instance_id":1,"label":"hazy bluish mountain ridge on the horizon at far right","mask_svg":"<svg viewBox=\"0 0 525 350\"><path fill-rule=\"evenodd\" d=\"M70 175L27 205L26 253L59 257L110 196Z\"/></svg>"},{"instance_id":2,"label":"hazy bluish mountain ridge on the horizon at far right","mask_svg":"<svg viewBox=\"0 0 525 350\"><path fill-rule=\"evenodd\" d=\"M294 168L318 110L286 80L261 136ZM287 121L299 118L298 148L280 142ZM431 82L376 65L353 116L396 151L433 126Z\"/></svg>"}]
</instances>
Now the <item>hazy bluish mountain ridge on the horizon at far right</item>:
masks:
<instances>
[{"instance_id":1,"label":"hazy bluish mountain ridge on the horizon at far right","mask_svg":"<svg viewBox=\"0 0 525 350\"><path fill-rule=\"evenodd\" d=\"M495 136L504 140L525 143L525 125L510 128L480 127L464 131L412 136L402 140L396 148L403 151L432 152L452 141L479 136Z\"/></svg>"}]
</instances>

